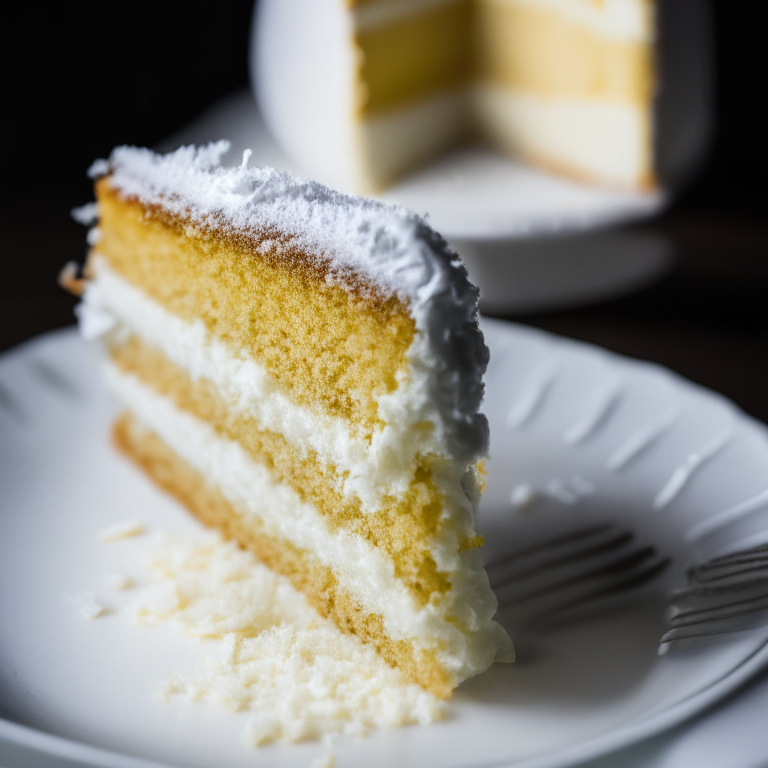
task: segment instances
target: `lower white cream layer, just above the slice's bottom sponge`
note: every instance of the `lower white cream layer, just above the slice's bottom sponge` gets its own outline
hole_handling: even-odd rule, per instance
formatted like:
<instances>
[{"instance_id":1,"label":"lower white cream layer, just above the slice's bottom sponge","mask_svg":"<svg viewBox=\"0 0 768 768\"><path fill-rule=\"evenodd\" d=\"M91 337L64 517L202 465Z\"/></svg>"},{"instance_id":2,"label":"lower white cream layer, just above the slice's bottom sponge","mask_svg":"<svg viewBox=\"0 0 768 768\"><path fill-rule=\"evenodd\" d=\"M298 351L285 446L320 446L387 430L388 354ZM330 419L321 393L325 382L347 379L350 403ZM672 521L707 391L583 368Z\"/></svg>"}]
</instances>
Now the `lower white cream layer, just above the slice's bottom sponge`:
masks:
<instances>
[{"instance_id":1,"label":"lower white cream layer, just above the slice's bottom sponge","mask_svg":"<svg viewBox=\"0 0 768 768\"><path fill-rule=\"evenodd\" d=\"M142 384L135 376L105 364L106 381L118 399L151 431L245 515L257 518L266 531L309 552L331 569L340 585L368 611L382 617L390 638L409 640L433 651L457 679L477 674L510 650L501 627L491 621L495 599L477 594L470 579L454 585L449 606L469 632L438 615L428 604L420 608L397 580L392 561L364 539L331 530L315 508L285 485L275 483L236 442L219 437L205 422ZM460 576L460 574L459 574ZM482 574L485 578L484 574ZM459 579L461 581L461 579ZM443 610L444 606L441 606Z\"/></svg>"}]
</instances>

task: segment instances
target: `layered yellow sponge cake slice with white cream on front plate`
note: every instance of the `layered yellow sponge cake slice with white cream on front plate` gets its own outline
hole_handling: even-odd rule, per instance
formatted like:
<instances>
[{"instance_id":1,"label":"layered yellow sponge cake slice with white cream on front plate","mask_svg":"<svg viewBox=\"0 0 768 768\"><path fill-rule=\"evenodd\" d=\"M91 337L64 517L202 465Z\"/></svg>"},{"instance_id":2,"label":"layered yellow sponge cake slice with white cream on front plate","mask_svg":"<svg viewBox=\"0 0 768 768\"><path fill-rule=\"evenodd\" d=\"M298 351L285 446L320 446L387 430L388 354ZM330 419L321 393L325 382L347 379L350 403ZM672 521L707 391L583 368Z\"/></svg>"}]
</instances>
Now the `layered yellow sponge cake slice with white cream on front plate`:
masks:
<instances>
[{"instance_id":1,"label":"layered yellow sponge cake slice with white cream on front plate","mask_svg":"<svg viewBox=\"0 0 768 768\"><path fill-rule=\"evenodd\" d=\"M121 147L98 178L83 328L118 446L204 523L438 696L511 644L476 506L477 289L421 217L226 142Z\"/></svg>"}]
</instances>

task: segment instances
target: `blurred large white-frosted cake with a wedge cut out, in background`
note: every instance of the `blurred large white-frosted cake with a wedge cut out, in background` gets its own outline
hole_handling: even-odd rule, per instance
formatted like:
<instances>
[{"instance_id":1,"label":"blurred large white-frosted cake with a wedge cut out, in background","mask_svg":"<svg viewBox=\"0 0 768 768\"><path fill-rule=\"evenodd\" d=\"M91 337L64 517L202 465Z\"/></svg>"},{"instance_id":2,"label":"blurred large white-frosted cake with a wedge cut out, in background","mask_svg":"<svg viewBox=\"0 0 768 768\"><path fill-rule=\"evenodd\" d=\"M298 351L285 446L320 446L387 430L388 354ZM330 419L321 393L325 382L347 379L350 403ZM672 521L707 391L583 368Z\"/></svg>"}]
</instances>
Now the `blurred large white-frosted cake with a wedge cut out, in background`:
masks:
<instances>
[{"instance_id":1,"label":"blurred large white-frosted cake with a wedge cut out, in background","mask_svg":"<svg viewBox=\"0 0 768 768\"><path fill-rule=\"evenodd\" d=\"M307 172L379 191L481 140L655 185L654 0L261 0L256 89Z\"/></svg>"}]
</instances>

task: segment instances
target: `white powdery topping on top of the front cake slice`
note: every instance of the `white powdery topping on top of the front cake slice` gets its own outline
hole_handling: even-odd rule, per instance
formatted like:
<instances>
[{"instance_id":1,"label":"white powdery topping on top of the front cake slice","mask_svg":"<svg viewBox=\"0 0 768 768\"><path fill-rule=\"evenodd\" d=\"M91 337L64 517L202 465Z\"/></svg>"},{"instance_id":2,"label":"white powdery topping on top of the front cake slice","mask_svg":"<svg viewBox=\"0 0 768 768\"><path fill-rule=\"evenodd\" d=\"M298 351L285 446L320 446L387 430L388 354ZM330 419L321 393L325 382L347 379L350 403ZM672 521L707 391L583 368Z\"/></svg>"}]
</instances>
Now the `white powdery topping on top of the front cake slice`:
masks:
<instances>
[{"instance_id":1,"label":"white powdery topping on top of the front cake slice","mask_svg":"<svg viewBox=\"0 0 768 768\"><path fill-rule=\"evenodd\" d=\"M238 232L279 227L298 244L330 263L331 273L349 270L415 305L451 290L466 272L425 219L400 206L335 192L314 181L294 180L274 168L220 165L228 141L185 146L167 155L118 147L97 161L92 175L111 173L111 184L129 197L161 205L195 224L215 221ZM466 289L465 289L466 292ZM474 294L473 294L474 298Z\"/></svg>"}]
</instances>

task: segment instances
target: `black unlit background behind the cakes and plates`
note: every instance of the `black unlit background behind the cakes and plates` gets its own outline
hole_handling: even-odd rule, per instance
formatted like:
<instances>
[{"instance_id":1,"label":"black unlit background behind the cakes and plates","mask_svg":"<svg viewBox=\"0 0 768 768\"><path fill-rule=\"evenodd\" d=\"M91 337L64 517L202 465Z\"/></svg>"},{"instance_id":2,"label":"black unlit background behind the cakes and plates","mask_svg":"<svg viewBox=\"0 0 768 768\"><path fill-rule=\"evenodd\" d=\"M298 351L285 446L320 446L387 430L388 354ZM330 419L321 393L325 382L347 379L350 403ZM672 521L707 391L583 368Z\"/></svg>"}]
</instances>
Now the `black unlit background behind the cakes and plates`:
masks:
<instances>
[{"instance_id":1,"label":"black unlit background behind the cakes and plates","mask_svg":"<svg viewBox=\"0 0 768 768\"><path fill-rule=\"evenodd\" d=\"M711 155L653 225L675 243L671 272L631 296L514 319L667 365L768 421L761 6L713 3ZM90 163L117 144L156 144L248 83L250 1L210 4L205 12L157 2L93 8L100 12L74 3L14 4L4 12L0 351L73 321L75 300L55 277L85 252L85 232L69 210L92 197Z\"/></svg>"}]
</instances>

